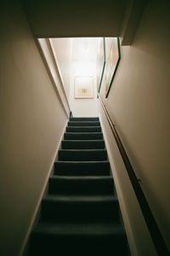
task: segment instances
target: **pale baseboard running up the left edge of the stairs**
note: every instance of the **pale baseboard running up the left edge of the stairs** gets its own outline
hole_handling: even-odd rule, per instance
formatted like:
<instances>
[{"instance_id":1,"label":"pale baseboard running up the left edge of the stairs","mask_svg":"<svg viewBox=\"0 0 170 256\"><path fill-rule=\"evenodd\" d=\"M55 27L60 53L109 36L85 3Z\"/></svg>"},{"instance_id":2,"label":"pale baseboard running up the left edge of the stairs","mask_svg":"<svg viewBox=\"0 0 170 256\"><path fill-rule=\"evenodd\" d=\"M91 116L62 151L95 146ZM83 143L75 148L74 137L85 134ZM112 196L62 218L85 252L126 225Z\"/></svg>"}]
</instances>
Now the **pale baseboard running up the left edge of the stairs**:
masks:
<instances>
[{"instance_id":1,"label":"pale baseboard running up the left edge of the stairs","mask_svg":"<svg viewBox=\"0 0 170 256\"><path fill-rule=\"evenodd\" d=\"M49 168L48 175L46 177L46 180L45 180L43 188L42 188L42 193L41 193L40 198L39 198L39 200L37 202L37 207L36 207L35 212L34 212L34 214L32 216L31 223L30 223L30 225L28 227L28 231L27 231L26 237L25 237L25 239L23 241L23 245L21 247L19 256L29 256L29 237L31 235L31 230L33 229L33 227L37 224L37 221L39 220L40 211L41 211L41 201L42 201L43 196L48 193L48 179L54 173L54 162L58 158L59 148L61 147L61 142L62 142L62 140L64 138L64 134L65 134L65 129L66 129L67 123L68 123L68 120L65 123L63 132L62 132L61 137L59 139L59 143L58 143L58 145L57 145L57 147L55 149L54 158L53 158L53 160L51 162L51 166Z\"/></svg>"}]
</instances>

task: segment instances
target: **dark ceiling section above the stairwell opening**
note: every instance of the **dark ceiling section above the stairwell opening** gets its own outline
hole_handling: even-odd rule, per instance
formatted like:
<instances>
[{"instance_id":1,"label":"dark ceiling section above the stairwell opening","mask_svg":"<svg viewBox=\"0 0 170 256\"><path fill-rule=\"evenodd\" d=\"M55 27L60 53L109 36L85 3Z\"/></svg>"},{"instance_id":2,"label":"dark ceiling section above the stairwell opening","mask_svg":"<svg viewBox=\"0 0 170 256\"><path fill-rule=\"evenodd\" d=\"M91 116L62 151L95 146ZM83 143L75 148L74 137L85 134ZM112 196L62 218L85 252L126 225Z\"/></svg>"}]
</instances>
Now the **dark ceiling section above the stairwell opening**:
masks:
<instances>
[{"instance_id":1,"label":"dark ceiling section above the stairwell opening","mask_svg":"<svg viewBox=\"0 0 170 256\"><path fill-rule=\"evenodd\" d=\"M117 37L128 0L22 0L37 38Z\"/></svg>"}]
</instances>

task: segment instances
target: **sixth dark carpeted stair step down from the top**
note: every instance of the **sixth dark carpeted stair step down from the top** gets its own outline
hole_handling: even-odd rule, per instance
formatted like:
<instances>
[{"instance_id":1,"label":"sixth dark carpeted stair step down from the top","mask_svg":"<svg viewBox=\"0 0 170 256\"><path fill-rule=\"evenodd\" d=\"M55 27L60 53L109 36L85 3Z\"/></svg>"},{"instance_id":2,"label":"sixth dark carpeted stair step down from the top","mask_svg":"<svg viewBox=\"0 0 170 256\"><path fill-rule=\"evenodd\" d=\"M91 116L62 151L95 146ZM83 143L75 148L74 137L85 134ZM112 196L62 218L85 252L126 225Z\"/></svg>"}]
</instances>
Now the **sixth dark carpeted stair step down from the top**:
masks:
<instances>
[{"instance_id":1,"label":"sixth dark carpeted stair step down from the top","mask_svg":"<svg viewBox=\"0 0 170 256\"><path fill-rule=\"evenodd\" d=\"M105 149L60 149L59 160L96 161L107 160Z\"/></svg>"}]
</instances>

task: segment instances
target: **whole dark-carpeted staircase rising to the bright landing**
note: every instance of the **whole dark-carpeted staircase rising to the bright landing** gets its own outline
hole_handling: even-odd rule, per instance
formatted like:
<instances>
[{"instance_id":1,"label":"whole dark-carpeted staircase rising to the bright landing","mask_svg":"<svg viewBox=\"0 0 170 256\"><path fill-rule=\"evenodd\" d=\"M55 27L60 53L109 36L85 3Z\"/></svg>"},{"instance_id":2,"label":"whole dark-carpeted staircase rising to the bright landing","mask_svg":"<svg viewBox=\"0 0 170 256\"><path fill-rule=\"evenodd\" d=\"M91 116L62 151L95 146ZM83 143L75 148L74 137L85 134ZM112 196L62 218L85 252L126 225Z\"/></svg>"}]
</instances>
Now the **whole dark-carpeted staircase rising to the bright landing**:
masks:
<instances>
[{"instance_id":1,"label":"whole dark-carpeted staircase rising to the bright landing","mask_svg":"<svg viewBox=\"0 0 170 256\"><path fill-rule=\"evenodd\" d=\"M71 118L31 232L31 256L128 255L99 118Z\"/></svg>"}]
</instances>

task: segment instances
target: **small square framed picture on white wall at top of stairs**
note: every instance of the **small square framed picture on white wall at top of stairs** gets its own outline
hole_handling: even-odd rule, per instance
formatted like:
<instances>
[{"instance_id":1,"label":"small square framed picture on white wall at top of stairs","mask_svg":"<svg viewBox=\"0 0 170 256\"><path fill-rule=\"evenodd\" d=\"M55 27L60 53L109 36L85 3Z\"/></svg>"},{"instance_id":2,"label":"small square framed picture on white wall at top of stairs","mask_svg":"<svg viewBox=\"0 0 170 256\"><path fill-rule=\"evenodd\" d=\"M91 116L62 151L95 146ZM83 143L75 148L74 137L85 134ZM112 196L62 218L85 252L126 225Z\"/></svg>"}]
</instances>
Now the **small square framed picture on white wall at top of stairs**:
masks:
<instances>
[{"instance_id":1,"label":"small square framed picture on white wall at top of stairs","mask_svg":"<svg viewBox=\"0 0 170 256\"><path fill-rule=\"evenodd\" d=\"M94 98L94 77L75 77L75 99Z\"/></svg>"}]
</instances>

